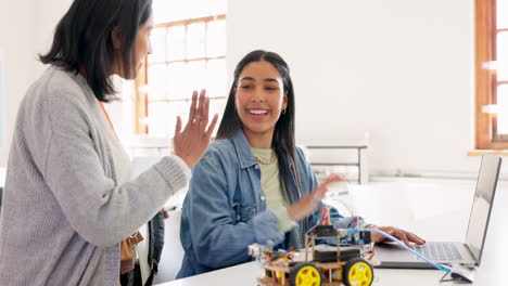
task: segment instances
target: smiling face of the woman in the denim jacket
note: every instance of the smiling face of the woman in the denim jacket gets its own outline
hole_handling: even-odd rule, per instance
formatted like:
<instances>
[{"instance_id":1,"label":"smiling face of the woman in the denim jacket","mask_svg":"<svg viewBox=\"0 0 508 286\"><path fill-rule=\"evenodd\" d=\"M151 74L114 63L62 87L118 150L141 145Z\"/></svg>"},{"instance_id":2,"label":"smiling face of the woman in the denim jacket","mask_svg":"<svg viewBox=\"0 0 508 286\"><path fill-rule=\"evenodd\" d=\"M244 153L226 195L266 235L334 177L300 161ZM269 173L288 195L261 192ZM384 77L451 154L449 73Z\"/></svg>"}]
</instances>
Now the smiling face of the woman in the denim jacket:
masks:
<instances>
[{"instance_id":1,"label":"smiling face of the woman in the denim jacket","mask_svg":"<svg viewBox=\"0 0 508 286\"><path fill-rule=\"evenodd\" d=\"M252 62L240 74L234 102L245 136L274 134L279 117L288 107L288 96L277 68Z\"/></svg>"}]
</instances>

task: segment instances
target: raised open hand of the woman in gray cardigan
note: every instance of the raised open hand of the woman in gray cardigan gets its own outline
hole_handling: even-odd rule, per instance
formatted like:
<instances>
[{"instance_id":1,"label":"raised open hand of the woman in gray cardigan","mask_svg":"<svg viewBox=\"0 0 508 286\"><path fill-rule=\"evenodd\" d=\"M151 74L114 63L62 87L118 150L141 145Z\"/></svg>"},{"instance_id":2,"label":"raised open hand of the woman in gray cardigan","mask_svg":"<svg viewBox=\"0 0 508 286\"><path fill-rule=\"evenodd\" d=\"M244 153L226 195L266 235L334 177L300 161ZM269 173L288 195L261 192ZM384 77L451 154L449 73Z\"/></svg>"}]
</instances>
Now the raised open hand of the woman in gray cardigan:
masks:
<instances>
[{"instance_id":1,"label":"raised open hand of the woman in gray cardigan","mask_svg":"<svg viewBox=\"0 0 508 286\"><path fill-rule=\"evenodd\" d=\"M205 94L206 91L202 90L198 101L198 91L192 93L189 121L183 131L181 131L181 118L177 117L174 138L175 155L187 162L190 168L200 161L208 148L218 119L216 114L208 126L209 99Z\"/></svg>"}]
</instances>

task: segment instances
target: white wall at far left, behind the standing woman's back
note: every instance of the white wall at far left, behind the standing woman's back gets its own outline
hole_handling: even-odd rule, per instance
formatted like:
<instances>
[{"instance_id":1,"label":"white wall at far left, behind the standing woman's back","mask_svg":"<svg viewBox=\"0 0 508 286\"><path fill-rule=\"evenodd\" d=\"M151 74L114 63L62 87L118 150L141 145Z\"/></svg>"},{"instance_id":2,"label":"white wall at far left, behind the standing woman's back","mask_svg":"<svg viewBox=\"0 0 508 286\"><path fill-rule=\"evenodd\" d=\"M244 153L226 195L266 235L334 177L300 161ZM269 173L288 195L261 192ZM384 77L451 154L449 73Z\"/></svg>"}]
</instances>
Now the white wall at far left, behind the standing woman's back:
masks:
<instances>
[{"instance_id":1,"label":"white wall at far left, behind the standing woman's back","mask_svg":"<svg viewBox=\"0 0 508 286\"><path fill-rule=\"evenodd\" d=\"M15 116L29 84L45 66L37 61L51 43L53 29L71 0L0 0L0 50L3 51L4 94L3 142L0 166L5 166L11 146Z\"/></svg>"}]
</instances>

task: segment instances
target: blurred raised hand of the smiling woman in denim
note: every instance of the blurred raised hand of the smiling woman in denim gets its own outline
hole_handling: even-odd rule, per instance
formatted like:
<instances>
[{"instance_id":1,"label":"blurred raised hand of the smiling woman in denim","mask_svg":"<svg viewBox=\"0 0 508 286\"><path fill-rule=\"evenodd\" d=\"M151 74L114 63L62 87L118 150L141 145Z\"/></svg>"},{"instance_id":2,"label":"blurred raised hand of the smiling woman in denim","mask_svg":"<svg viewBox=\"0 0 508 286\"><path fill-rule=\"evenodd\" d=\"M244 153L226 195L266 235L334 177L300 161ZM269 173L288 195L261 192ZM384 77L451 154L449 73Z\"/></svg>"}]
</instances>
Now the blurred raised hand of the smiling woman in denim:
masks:
<instances>
[{"instance_id":1,"label":"blurred raised hand of the smiling woman in denim","mask_svg":"<svg viewBox=\"0 0 508 286\"><path fill-rule=\"evenodd\" d=\"M330 176L327 181L319 184L310 194L288 207L290 218L294 221L299 221L313 214L313 212L318 208L319 203L321 203L321 198L328 192L328 185L332 182L341 181L344 181L344 178L341 176Z\"/></svg>"}]
</instances>

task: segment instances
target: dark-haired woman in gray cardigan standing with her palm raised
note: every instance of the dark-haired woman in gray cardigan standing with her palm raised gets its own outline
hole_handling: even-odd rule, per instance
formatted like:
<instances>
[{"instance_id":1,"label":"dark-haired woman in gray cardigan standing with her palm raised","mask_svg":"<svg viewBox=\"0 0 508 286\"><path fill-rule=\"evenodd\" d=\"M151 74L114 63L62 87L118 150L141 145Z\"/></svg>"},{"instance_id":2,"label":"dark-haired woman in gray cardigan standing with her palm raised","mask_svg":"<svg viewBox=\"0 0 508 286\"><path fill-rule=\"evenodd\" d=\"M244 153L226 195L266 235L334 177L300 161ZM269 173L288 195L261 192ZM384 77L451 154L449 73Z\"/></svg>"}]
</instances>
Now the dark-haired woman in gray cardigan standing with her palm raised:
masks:
<instances>
[{"instance_id":1,"label":"dark-haired woman in gray cardigan standing with her palm raised","mask_svg":"<svg viewBox=\"0 0 508 286\"><path fill-rule=\"evenodd\" d=\"M204 154L208 100L194 92L176 156L130 180L130 161L102 103L112 75L134 79L151 52L151 0L75 0L60 21L50 67L29 88L14 129L0 218L0 285L107 285L119 243L188 182Z\"/></svg>"}]
</instances>

